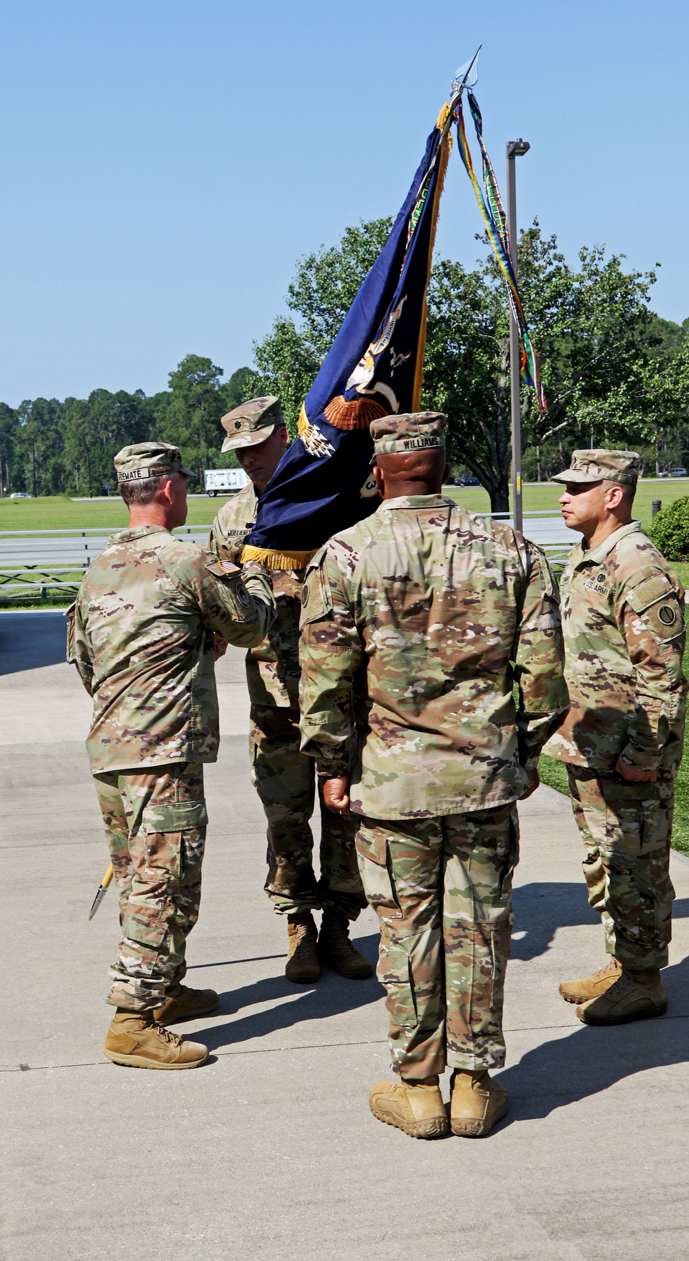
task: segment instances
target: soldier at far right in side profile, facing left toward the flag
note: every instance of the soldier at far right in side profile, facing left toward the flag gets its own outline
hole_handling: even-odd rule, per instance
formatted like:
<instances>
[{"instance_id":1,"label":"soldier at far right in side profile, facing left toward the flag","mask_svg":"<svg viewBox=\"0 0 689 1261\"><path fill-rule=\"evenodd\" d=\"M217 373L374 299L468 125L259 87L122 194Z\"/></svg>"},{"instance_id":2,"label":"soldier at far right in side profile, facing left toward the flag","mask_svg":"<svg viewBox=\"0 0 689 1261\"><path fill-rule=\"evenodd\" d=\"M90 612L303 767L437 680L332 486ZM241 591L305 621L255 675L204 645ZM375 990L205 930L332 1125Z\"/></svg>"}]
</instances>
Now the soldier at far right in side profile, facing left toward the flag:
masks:
<instances>
[{"instance_id":1,"label":"soldier at far right in side profile, facing left toward the flag","mask_svg":"<svg viewBox=\"0 0 689 1261\"><path fill-rule=\"evenodd\" d=\"M563 517L583 540L561 580L572 709L547 753L567 763L586 857L588 900L602 915L607 967L563 981L586 1024L622 1024L668 1006L674 890L674 778L684 748L684 590L631 520L634 451L574 451Z\"/></svg>"}]
</instances>

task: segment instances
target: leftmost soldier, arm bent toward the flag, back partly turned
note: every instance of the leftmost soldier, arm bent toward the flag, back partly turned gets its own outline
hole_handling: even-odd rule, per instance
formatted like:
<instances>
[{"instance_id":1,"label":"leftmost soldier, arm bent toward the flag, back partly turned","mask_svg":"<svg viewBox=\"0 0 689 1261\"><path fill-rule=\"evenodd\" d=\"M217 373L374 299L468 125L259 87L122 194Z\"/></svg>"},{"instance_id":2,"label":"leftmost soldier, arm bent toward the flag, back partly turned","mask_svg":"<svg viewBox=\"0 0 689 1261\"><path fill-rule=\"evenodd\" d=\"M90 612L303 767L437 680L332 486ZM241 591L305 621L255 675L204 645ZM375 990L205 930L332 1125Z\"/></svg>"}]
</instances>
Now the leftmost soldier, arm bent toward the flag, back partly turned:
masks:
<instances>
[{"instance_id":1,"label":"leftmost soldier, arm bent toward the flag, back partly turned","mask_svg":"<svg viewBox=\"0 0 689 1261\"><path fill-rule=\"evenodd\" d=\"M218 753L214 657L225 642L259 643L275 605L261 566L242 580L237 565L171 536L186 520L176 446L125 446L115 467L130 528L86 574L68 646L93 696L87 750L120 894L105 1053L139 1068L194 1068L207 1048L164 1025L218 1005L213 990L180 984L199 913L203 763Z\"/></svg>"}]
</instances>

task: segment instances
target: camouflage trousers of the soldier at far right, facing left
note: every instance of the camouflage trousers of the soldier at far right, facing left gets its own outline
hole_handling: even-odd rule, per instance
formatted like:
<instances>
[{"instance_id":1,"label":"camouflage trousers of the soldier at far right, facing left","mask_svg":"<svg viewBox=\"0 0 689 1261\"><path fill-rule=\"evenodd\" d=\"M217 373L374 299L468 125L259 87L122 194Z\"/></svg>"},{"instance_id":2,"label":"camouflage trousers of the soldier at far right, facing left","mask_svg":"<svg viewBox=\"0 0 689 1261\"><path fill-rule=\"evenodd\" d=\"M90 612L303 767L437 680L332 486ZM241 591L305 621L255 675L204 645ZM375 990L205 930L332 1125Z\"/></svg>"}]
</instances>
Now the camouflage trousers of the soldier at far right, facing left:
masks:
<instances>
[{"instance_id":1,"label":"camouflage trousers of the soldier at far right, facing left","mask_svg":"<svg viewBox=\"0 0 689 1261\"><path fill-rule=\"evenodd\" d=\"M631 784L572 765L567 773L588 902L601 914L608 955L632 971L665 967L675 897L673 782Z\"/></svg>"}]
</instances>

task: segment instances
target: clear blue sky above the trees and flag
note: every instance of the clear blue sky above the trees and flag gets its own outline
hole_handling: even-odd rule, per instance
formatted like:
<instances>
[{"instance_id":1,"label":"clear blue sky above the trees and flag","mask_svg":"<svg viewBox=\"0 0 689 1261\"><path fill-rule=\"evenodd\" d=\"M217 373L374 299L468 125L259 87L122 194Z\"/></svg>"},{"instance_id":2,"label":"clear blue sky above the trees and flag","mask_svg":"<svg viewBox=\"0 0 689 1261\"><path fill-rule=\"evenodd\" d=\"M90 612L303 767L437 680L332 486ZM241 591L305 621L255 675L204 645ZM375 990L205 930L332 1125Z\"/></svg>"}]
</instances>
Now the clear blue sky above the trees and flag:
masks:
<instances>
[{"instance_id":1,"label":"clear blue sky above the trees and flag","mask_svg":"<svg viewBox=\"0 0 689 1261\"><path fill-rule=\"evenodd\" d=\"M296 260L394 213L455 68L519 219L663 264L689 314L688 6L618 0L13 0L0 4L0 400L225 376L285 310ZM471 264L456 151L437 248Z\"/></svg>"}]
</instances>

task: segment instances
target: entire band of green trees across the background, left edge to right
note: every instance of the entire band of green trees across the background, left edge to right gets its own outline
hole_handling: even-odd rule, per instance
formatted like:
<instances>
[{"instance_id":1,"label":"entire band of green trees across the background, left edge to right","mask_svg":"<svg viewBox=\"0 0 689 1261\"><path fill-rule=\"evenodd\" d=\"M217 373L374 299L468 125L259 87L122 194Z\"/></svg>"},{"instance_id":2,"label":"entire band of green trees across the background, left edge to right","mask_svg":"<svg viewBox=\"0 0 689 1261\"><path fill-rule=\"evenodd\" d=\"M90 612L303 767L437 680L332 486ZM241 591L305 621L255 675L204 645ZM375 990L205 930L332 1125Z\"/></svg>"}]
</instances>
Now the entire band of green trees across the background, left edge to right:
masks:
<instances>
[{"instance_id":1,"label":"entire band of green trees across the background, left edge to right","mask_svg":"<svg viewBox=\"0 0 689 1261\"><path fill-rule=\"evenodd\" d=\"M392 219L345 230L335 246L301 259L287 291L291 314L254 343L254 367L222 381L210 359L188 354L170 388L146 397L94 390L88 398L0 404L3 493L103 494L112 456L127 443L176 443L189 468L232 465L219 417L244 398L276 393L292 435L304 398ZM428 284L422 407L446 412L455 472L474 473L494 511L508 507L510 473L509 311L493 253L466 269L438 260ZM519 240L519 279L538 348L548 412L521 388L524 478L547 480L578 446L632 446L644 473L689 467L689 319L650 310L655 272L626 271L622 256L582 247L569 264L538 222Z\"/></svg>"}]
</instances>

